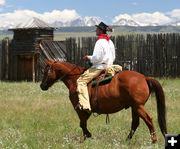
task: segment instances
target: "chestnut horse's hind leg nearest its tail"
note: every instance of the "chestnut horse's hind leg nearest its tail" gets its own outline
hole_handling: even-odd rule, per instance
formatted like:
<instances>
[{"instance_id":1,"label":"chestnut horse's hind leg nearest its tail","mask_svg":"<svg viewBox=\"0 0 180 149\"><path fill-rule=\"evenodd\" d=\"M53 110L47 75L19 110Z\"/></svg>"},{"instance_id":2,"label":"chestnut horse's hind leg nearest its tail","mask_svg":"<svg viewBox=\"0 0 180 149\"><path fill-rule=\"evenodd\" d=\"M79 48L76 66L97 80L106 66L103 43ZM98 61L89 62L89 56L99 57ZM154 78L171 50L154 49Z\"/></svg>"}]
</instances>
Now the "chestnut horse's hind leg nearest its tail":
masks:
<instances>
[{"instance_id":1,"label":"chestnut horse's hind leg nearest its tail","mask_svg":"<svg viewBox=\"0 0 180 149\"><path fill-rule=\"evenodd\" d=\"M149 128L152 143L155 143L157 141L156 132L154 129L154 125L152 122L152 118L149 116L149 114L145 111L144 106L141 105L137 108L138 115L145 121L146 125Z\"/></svg>"}]
</instances>

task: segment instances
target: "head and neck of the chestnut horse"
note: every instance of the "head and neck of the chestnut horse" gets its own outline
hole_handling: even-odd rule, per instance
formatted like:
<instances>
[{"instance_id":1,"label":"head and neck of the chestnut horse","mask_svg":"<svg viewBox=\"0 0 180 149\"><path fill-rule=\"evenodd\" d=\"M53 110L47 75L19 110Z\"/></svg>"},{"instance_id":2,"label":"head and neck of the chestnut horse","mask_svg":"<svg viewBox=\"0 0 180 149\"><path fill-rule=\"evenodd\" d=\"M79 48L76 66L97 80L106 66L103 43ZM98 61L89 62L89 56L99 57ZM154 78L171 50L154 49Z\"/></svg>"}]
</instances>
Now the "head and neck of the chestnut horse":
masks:
<instances>
[{"instance_id":1,"label":"head and neck of the chestnut horse","mask_svg":"<svg viewBox=\"0 0 180 149\"><path fill-rule=\"evenodd\" d=\"M85 68L68 62L47 60L40 87L48 90L57 80L62 80L68 88L76 86L76 81L84 70Z\"/></svg>"}]
</instances>

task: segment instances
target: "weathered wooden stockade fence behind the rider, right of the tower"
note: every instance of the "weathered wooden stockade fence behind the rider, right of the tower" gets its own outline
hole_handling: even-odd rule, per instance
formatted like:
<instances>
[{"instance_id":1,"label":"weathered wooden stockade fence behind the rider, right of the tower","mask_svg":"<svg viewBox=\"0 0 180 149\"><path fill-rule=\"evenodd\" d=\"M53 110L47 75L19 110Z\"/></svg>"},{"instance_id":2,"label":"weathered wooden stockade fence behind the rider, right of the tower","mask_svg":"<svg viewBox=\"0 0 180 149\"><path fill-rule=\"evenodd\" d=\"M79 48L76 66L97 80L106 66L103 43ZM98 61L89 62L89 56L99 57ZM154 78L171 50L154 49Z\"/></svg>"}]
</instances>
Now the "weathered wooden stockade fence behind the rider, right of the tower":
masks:
<instances>
[{"instance_id":1,"label":"weathered wooden stockade fence behind the rider, right of the tower","mask_svg":"<svg viewBox=\"0 0 180 149\"><path fill-rule=\"evenodd\" d=\"M131 34L111 37L116 64L148 76L180 77L180 34ZM95 37L66 40L68 61L87 66L82 57L92 54Z\"/></svg>"}]
</instances>

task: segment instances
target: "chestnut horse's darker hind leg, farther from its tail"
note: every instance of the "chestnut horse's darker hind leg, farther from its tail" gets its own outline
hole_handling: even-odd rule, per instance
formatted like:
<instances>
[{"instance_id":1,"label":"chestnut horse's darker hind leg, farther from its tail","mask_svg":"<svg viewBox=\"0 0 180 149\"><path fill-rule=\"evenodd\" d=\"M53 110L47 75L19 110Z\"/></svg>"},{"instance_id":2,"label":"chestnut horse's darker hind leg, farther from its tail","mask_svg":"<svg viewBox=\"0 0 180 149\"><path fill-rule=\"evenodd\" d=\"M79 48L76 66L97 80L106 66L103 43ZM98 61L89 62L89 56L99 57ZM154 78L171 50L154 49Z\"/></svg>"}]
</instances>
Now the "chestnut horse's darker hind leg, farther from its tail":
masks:
<instances>
[{"instance_id":1,"label":"chestnut horse's darker hind leg, farther from its tail","mask_svg":"<svg viewBox=\"0 0 180 149\"><path fill-rule=\"evenodd\" d=\"M131 131L127 137L127 140L130 140L132 138L137 127L139 126L139 115L137 114L137 111L134 110L133 107L131 108L131 113L132 113Z\"/></svg>"}]
</instances>

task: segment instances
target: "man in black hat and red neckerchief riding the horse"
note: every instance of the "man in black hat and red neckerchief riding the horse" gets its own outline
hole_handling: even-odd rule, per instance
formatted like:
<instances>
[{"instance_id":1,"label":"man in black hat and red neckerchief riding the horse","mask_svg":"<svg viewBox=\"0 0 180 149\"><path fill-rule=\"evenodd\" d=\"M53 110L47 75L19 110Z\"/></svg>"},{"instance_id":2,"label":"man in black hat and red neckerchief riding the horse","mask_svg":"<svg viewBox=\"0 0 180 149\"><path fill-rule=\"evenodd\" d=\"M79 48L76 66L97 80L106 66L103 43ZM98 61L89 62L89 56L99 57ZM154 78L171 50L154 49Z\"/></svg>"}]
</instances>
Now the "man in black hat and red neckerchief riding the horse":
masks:
<instances>
[{"instance_id":1,"label":"man in black hat and red neckerchief riding the horse","mask_svg":"<svg viewBox=\"0 0 180 149\"><path fill-rule=\"evenodd\" d=\"M78 108L91 112L89 94L87 84L97 77L104 69L111 66L115 60L115 47L107 31L112 29L101 22L96 25L96 35L98 36L94 46L93 54L83 57L84 60L89 60L92 66L87 69L77 80L77 92L79 97Z\"/></svg>"}]
</instances>

